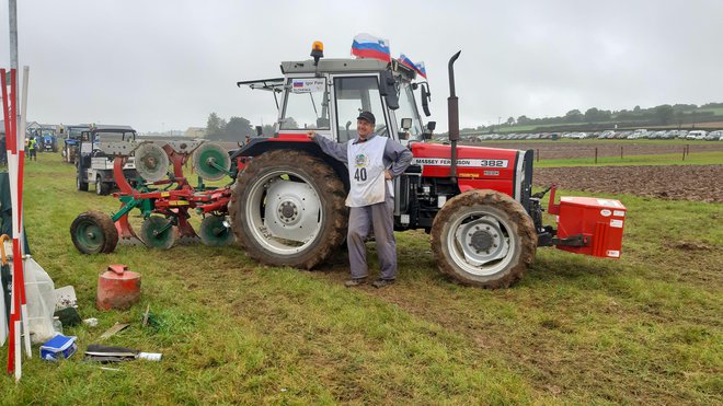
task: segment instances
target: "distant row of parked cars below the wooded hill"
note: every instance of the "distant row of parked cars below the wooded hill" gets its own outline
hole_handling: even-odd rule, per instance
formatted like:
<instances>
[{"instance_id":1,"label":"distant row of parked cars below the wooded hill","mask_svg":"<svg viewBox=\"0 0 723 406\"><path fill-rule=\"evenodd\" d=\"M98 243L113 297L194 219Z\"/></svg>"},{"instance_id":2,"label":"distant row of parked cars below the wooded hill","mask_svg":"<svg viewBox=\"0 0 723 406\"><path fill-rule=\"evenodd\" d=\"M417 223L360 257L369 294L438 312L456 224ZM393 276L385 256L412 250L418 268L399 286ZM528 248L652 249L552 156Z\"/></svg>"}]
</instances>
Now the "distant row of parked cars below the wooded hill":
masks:
<instances>
[{"instance_id":1,"label":"distant row of parked cars below the wooded hill","mask_svg":"<svg viewBox=\"0 0 723 406\"><path fill-rule=\"evenodd\" d=\"M646 129L636 129L633 131L596 131L596 132L537 132L537 134L483 134L483 135L461 135L463 140L467 141L490 141L490 140L556 140L560 138L567 139L687 139L687 140L707 140L707 141L723 141L723 130L704 131L704 130L661 130L649 131Z\"/></svg>"}]
</instances>

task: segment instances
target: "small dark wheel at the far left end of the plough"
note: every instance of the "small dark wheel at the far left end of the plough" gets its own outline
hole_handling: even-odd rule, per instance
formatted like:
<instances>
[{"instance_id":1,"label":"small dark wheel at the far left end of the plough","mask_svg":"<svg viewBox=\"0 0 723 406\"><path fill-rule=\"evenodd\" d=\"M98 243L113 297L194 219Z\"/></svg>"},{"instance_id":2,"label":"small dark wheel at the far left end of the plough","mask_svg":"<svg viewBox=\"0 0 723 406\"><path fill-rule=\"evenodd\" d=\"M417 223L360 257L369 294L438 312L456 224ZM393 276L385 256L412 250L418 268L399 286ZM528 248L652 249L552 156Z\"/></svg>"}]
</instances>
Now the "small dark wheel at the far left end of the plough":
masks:
<instances>
[{"instance_id":1,"label":"small dark wheel at the far left end of the plough","mask_svg":"<svg viewBox=\"0 0 723 406\"><path fill-rule=\"evenodd\" d=\"M85 211L70 224L72 244L82 254L110 254L118 244L118 232L111 217L101 211Z\"/></svg>"}]
</instances>

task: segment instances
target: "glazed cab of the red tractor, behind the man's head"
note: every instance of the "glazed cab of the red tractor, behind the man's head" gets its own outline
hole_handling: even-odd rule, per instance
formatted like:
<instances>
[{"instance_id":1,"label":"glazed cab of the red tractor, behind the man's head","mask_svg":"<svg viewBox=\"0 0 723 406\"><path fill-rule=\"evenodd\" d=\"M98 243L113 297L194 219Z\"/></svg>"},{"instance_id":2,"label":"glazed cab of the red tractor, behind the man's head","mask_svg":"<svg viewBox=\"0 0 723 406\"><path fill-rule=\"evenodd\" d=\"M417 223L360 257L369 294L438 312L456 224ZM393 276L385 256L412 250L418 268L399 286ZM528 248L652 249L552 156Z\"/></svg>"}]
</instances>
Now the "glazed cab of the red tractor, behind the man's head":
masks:
<instances>
[{"instance_id":1,"label":"glazed cab of the red tractor, behind the man's head","mask_svg":"<svg viewBox=\"0 0 723 406\"><path fill-rule=\"evenodd\" d=\"M282 72L284 78L237 83L274 93L275 132L280 140L306 138L307 131L314 130L346 142L356 136L360 112L377 117L379 136L403 143L424 139L414 95L416 73L395 59L391 63L377 59L287 61L282 62ZM428 97L424 89L423 96Z\"/></svg>"}]
</instances>

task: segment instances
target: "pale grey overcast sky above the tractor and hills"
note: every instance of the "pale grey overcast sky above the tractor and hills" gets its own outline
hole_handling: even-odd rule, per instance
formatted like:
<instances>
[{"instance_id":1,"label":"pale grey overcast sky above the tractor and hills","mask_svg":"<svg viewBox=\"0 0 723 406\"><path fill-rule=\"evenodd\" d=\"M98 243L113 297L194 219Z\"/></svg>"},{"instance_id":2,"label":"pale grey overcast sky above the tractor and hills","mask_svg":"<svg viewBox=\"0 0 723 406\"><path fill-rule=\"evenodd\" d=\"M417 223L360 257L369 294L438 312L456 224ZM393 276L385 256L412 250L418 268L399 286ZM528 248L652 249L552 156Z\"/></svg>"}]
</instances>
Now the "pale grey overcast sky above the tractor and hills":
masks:
<instances>
[{"instance_id":1,"label":"pale grey overcast sky above the tractor and hills","mask_svg":"<svg viewBox=\"0 0 723 406\"><path fill-rule=\"evenodd\" d=\"M578 108L723 102L723 1L19 0L28 119L205 127L210 112L271 124L282 60L349 57L369 33L424 61L431 119L447 129L447 61L457 50L460 126ZM0 65L10 66L8 0Z\"/></svg>"}]
</instances>

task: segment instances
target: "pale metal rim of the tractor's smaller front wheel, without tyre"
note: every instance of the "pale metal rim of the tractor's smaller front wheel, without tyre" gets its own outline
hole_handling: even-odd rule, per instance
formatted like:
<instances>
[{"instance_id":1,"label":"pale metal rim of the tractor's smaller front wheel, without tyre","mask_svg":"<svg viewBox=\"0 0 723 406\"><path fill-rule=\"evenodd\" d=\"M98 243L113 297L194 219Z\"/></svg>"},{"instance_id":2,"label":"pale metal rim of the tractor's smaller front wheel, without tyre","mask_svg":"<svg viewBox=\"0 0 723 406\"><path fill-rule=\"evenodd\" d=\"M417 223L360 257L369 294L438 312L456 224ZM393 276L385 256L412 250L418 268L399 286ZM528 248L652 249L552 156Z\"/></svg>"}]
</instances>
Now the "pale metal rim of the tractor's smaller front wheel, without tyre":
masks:
<instances>
[{"instance_id":1,"label":"pale metal rim of the tractor's smaller front wheel, without tyre","mask_svg":"<svg viewBox=\"0 0 723 406\"><path fill-rule=\"evenodd\" d=\"M492 212L471 210L448 228L447 251L466 272L491 276L504 270L518 250L514 229Z\"/></svg>"}]
</instances>

